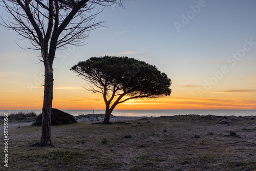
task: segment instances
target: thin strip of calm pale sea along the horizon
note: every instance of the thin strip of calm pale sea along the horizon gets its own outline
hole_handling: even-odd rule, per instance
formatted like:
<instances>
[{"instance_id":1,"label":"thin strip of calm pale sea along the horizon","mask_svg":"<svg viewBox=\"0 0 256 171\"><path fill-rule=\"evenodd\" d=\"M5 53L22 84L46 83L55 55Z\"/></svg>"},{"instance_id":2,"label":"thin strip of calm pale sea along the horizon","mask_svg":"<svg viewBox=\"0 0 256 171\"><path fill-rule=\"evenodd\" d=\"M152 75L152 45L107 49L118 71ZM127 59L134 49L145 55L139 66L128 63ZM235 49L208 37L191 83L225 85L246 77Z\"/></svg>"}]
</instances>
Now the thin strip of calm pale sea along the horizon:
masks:
<instances>
[{"instance_id":1,"label":"thin strip of calm pale sea along the horizon","mask_svg":"<svg viewBox=\"0 0 256 171\"><path fill-rule=\"evenodd\" d=\"M0 114L4 112L15 113L18 111L31 112L34 111L37 114L41 113L41 110L0 110ZM71 115L77 116L81 114L103 114L104 110L62 110ZM114 110L115 116L173 116L173 115L218 115L218 116L256 116L256 110Z\"/></svg>"}]
</instances>

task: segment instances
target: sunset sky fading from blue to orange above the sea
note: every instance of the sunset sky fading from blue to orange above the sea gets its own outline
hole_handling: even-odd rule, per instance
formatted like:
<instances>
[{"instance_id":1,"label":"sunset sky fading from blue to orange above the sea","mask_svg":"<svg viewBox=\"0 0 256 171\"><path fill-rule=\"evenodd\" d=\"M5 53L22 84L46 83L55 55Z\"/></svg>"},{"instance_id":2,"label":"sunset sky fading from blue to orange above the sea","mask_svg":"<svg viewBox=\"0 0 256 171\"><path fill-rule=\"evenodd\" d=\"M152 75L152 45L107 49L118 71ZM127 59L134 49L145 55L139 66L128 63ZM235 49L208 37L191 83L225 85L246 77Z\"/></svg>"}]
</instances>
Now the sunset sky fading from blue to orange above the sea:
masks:
<instances>
[{"instance_id":1,"label":"sunset sky fading from blue to orange above the sea","mask_svg":"<svg viewBox=\"0 0 256 171\"><path fill-rule=\"evenodd\" d=\"M92 56L128 56L155 65L172 79L172 94L130 100L116 109L256 110L256 1L131 0L96 17L106 28L82 47L58 50L53 108L104 109L101 94L70 68ZM2 18L10 16L3 9ZM0 27L0 110L40 110L44 67L29 40ZM16 42L15 42L16 41ZM17 44L19 45L17 45Z\"/></svg>"}]
</instances>

